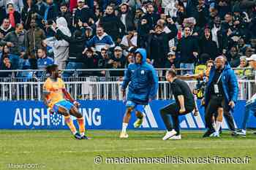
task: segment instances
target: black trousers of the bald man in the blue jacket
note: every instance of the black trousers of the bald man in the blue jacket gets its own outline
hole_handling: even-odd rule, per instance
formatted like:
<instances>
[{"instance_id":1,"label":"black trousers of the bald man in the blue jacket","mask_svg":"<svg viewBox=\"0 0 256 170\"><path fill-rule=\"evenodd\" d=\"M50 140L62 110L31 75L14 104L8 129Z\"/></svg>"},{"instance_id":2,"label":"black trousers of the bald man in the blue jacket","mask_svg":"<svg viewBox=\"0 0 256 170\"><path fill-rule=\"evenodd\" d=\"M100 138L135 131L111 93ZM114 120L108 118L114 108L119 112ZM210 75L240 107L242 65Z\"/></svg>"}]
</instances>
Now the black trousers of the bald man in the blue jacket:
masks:
<instances>
[{"instance_id":1,"label":"black trousers of the bald man in the blue jacket","mask_svg":"<svg viewBox=\"0 0 256 170\"><path fill-rule=\"evenodd\" d=\"M235 131L235 124L233 116L230 113L230 106L228 106L228 103L225 101L224 96L216 95L211 95L211 99L206 107L206 128L208 128L211 131L214 131L214 127L212 125L212 117L214 115L214 112L217 112L219 107L223 108L224 117L227 120L227 124L230 128L230 131Z\"/></svg>"}]
</instances>

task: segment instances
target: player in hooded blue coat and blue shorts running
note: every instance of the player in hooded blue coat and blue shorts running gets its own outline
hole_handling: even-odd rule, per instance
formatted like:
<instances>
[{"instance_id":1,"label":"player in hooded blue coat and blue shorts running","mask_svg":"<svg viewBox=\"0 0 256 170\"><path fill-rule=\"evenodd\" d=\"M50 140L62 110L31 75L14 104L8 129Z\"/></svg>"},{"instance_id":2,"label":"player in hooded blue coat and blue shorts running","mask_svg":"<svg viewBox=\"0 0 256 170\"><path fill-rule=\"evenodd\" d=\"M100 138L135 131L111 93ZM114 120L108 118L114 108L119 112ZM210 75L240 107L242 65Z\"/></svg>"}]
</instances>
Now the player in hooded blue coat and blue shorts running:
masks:
<instances>
[{"instance_id":1,"label":"player in hooded blue coat and blue shorts running","mask_svg":"<svg viewBox=\"0 0 256 170\"><path fill-rule=\"evenodd\" d=\"M127 138L127 126L131 112L135 109L138 120L133 124L135 128L143 123L143 107L152 101L157 94L157 72L151 64L146 62L146 50L138 48L135 51L135 63L131 63L125 72L124 82L121 85L124 101L126 100L126 88L129 84L126 107L120 138Z\"/></svg>"}]
</instances>

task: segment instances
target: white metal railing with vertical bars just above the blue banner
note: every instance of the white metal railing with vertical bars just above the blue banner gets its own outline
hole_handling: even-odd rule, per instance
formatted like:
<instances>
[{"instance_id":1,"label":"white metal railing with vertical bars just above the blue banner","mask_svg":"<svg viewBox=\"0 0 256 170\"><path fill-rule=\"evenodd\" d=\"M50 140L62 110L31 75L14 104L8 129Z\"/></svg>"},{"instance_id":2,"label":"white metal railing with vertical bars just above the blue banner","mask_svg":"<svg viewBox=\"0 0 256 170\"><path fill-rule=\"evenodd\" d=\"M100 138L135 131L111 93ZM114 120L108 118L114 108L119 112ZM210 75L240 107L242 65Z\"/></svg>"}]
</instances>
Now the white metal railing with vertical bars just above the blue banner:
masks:
<instances>
[{"instance_id":1,"label":"white metal railing with vertical bars just above the blue banner","mask_svg":"<svg viewBox=\"0 0 256 170\"><path fill-rule=\"evenodd\" d=\"M187 81L191 89L196 81ZM43 82L0 82L0 100L42 100ZM256 93L254 80L239 80L239 96L241 100L251 98ZM75 99L89 100L122 100L121 81L98 82L91 77L83 77L83 81L66 82L66 88ZM158 100L171 98L170 83L159 81Z\"/></svg>"}]
</instances>

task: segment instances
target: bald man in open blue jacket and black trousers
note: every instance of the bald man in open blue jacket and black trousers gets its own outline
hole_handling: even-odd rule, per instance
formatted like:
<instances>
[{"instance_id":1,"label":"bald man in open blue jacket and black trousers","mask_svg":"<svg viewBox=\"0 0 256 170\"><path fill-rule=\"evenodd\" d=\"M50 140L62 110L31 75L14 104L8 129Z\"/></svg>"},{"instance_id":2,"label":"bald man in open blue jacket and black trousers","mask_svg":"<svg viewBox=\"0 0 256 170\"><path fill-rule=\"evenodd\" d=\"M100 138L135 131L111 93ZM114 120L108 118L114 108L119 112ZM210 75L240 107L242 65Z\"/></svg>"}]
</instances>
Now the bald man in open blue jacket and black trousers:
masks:
<instances>
[{"instance_id":1,"label":"bald man in open blue jacket and black trousers","mask_svg":"<svg viewBox=\"0 0 256 170\"><path fill-rule=\"evenodd\" d=\"M231 134L236 134L232 112L238 98L238 81L236 74L227 59L219 56L214 61L214 67L209 74L209 80L206 85L205 105L206 105L206 134L203 137L215 136L212 125L212 117L219 107L223 108L224 116L229 125Z\"/></svg>"}]
</instances>

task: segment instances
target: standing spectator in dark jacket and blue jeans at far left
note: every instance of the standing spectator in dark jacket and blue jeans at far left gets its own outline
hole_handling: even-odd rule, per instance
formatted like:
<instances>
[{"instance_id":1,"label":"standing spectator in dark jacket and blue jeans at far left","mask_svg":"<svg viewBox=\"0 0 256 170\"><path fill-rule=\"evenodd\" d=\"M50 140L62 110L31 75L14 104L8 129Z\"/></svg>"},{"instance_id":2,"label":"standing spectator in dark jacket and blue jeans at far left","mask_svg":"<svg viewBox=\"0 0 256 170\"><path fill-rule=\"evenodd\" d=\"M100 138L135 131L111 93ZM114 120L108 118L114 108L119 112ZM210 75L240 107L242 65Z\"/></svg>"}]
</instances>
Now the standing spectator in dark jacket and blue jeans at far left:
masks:
<instances>
[{"instance_id":1,"label":"standing spectator in dark jacket and blue jeans at far left","mask_svg":"<svg viewBox=\"0 0 256 170\"><path fill-rule=\"evenodd\" d=\"M18 23L15 26L15 31L8 33L4 39L1 40L0 45L7 45L10 47L10 53L15 55L12 58L12 68L20 68L20 58L23 58L25 55L25 33L23 30L23 25Z\"/></svg>"}]
</instances>

